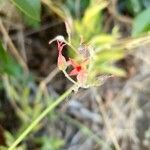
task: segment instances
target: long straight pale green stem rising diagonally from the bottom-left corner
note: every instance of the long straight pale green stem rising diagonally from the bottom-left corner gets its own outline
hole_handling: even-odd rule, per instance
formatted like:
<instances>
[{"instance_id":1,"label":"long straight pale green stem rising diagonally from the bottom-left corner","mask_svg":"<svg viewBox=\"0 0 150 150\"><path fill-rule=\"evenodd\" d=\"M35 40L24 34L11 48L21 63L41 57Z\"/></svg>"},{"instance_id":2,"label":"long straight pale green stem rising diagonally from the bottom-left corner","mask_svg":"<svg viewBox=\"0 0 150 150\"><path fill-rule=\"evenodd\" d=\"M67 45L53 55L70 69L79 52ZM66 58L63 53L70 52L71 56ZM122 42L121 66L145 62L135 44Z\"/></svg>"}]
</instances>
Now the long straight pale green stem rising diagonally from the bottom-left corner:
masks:
<instances>
[{"instance_id":1,"label":"long straight pale green stem rising diagonally from the bottom-left corner","mask_svg":"<svg viewBox=\"0 0 150 150\"><path fill-rule=\"evenodd\" d=\"M28 128L12 143L8 150L14 150L16 146L31 132L31 130L56 106L58 106L68 95L71 94L74 86L63 93L56 101L50 104L29 126Z\"/></svg>"}]
</instances>

